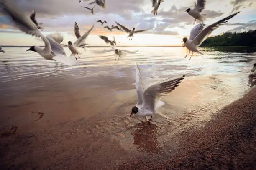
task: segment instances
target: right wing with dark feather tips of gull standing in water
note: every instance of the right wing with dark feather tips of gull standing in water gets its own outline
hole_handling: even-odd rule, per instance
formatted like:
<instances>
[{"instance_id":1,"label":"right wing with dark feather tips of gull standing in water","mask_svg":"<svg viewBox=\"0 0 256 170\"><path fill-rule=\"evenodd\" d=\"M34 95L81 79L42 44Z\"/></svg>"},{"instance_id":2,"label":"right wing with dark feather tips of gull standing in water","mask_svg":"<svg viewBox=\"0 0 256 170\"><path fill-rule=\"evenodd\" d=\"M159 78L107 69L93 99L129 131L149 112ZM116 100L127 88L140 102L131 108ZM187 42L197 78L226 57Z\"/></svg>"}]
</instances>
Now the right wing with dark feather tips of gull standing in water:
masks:
<instances>
[{"instance_id":1,"label":"right wing with dark feather tips of gull standing in water","mask_svg":"<svg viewBox=\"0 0 256 170\"><path fill-rule=\"evenodd\" d=\"M168 78L154 85L151 85L143 92L143 108L155 112L156 105L160 101L162 96L168 95L172 90L179 86L181 80L183 80L185 75Z\"/></svg>"}]
</instances>

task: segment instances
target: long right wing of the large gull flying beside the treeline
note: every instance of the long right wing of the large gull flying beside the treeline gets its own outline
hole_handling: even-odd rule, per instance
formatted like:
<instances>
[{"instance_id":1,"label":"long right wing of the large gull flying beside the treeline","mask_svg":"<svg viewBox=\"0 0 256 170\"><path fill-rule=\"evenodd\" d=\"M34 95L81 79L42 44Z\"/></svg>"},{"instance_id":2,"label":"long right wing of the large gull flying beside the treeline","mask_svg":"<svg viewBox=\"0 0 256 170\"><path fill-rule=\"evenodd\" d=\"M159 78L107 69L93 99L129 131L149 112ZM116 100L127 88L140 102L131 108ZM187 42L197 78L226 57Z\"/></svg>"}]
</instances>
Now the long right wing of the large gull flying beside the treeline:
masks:
<instances>
[{"instance_id":1,"label":"long right wing of the large gull flying beside the treeline","mask_svg":"<svg viewBox=\"0 0 256 170\"><path fill-rule=\"evenodd\" d=\"M227 20L233 18L236 14L240 13L234 13L232 15L229 15L226 18L223 18L222 20L217 21L216 23L213 23L209 26L207 26L205 29L203 29L196 37L194 40L192 40L192 43L195 44L196 46L200 45L211 33L214 31L216 28L220 27L220 25L223 25L223 23L228 22Z\"/></svg>"}]
</instances>

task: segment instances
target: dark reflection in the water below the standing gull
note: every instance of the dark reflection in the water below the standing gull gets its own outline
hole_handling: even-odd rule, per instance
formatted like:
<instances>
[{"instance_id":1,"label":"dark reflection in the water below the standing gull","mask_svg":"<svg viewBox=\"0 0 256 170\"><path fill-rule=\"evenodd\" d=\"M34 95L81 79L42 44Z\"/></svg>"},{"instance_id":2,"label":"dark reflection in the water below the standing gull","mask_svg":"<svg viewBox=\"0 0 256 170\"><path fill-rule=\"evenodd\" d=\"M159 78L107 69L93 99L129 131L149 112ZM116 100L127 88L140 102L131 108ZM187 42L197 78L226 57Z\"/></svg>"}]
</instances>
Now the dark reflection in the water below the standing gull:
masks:
<instances>
[{"instance_id":1,"label":"dark reflection in the water below the standing gull","mask_svg":"<svg viewBox=\"0 0 256 170\"><path fill-rule=\"evenodd\" d=\"M158 128L152 122L148 121L140 122L134 126L134 132L132 133L134 142L138 145L138 152L159 153L161 146L157 139Z\"/></svg>"}]
</instances>

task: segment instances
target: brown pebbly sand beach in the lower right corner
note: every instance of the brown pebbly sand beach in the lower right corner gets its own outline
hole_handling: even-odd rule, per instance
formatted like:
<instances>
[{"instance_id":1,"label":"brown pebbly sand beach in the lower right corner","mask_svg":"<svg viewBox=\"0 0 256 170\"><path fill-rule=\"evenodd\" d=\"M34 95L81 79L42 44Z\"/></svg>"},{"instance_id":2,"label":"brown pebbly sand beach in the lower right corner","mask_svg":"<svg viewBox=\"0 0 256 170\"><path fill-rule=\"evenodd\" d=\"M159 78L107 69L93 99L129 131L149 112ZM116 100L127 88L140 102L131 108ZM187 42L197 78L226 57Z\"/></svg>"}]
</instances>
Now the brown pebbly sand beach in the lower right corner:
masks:
<instances>
[{"instance_id":1,"label":"brown pebbly sand beach in the lower right corner","mask_svg":"<svg viewBox=\"0 0 256 170\"><path fill-rule=\"evenodd\" d=\"M175 155L132 159L118 169L254 170L256 167L256 88L216 114L204 128L179 134Z\"/></svg>"}]
</instances>

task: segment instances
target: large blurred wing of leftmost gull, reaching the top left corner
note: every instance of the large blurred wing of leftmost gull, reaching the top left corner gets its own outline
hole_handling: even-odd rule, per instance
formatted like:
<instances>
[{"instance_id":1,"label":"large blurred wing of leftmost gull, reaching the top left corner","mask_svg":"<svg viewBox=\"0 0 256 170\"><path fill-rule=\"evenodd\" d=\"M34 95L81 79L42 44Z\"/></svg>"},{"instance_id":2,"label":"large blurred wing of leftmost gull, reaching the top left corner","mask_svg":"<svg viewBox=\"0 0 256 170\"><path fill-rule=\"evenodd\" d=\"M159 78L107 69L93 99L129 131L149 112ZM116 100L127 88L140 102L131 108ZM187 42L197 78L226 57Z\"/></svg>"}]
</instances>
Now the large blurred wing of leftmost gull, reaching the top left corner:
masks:
<instances>
[{"instance_id":1,"label":"large blurred wing of leftmost gull, reaching the top left corner","mask_svg":"<svg viewBox=\"0 0 256 170\"><path fill-rule=\"evenodd\" d=\"M12 21L14 22L16 28L18 28L22 32L25 32L26 34L40 37L44 41L45 48L43 50L43 53L51 53L51 45L49 41L46 39L46 37L44 37L44 35L41 34L36 24L33 23L33 21L28 18L28 16L26 16L22 10L20 10L17 6L15 6L15 4L10 3L9 1L1 2L0 6L1 12L12 18Z\"/></svg>"}]
</instances>

